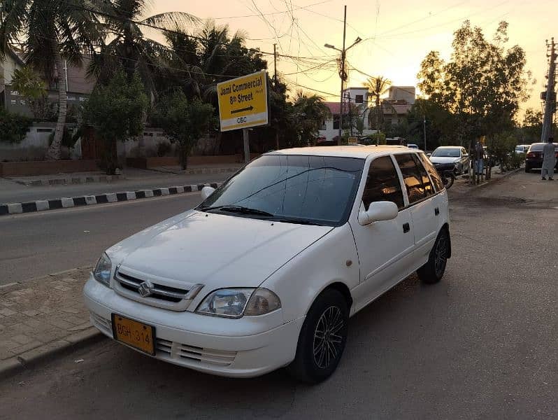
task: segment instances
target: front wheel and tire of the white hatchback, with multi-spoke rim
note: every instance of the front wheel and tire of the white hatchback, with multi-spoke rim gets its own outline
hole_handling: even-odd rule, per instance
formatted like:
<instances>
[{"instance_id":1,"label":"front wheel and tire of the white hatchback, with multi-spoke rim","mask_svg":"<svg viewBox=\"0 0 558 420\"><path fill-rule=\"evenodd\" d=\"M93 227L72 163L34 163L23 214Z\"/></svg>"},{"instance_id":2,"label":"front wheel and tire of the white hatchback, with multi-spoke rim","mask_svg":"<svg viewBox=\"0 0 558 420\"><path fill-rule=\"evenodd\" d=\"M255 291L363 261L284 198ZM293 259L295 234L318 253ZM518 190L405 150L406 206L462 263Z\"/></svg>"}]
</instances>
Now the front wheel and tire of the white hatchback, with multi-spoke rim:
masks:
<instances>
[{"instance_id":1,"label":"front wheel and tire of the white hatchback, with multi-spoke rim","mask_svg":"<svg viewBox=\"0 0 558 420\"><path fill-rule=\"evenodd\" d=\"M289 373L309 384L327 379L343 355L348 323L345 297L332 288L320 293L306 314Z\"/></svg>"}]
</instances>

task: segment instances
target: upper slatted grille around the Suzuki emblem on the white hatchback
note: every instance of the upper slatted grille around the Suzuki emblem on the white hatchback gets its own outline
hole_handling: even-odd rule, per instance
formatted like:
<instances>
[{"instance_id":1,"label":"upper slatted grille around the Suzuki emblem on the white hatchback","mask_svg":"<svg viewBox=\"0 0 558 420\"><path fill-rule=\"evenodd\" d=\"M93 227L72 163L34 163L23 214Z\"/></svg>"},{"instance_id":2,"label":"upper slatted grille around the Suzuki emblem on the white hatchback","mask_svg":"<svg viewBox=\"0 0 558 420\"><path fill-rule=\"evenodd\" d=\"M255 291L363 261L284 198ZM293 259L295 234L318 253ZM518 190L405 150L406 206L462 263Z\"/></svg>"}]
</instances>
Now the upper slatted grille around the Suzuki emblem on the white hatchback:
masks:
<instances>
[{"instance_id":1,"label":"upper slatted grille around the Suzuki emblem on the white hatchback","mask_svg":"<svg viewBox=\"0 0 558 420\"><path fill-rule=\"evenodd\" d=\"M114 279L115 291L120 295L138 302L173 311L185 311L192 302L192 299L199 293L199 290L203 288L201 284L149 276L148 274L136 272L134 269L123 269L122 267L117 267ZM139 289L145 281L150 283L150 294L143 297L139 293Z\"/></svg>"}]
</instances>

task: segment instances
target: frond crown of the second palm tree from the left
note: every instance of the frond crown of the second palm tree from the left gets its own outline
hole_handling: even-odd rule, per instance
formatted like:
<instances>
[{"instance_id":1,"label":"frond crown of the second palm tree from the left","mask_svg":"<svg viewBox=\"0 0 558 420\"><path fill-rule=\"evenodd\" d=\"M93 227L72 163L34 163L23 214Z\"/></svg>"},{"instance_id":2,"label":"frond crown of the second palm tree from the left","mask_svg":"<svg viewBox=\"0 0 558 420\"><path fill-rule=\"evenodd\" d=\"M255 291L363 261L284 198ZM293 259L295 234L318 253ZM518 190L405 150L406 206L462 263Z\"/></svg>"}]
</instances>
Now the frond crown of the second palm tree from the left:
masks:
<instances>
[{"instance_id":1,"label":"frond crown of the second palm tree from the left","mask_svg":"<svg viewBox=\"0 0 558 420\"><path fill-rule=\"evenodd\" d=\"M124 69L131 80L136 71L143 84L155 93L157 78L164 77L173 59L170 48L145 36L149 25L166 29L183 29L199 20L184 12L166 12L141 19L148 12L146 0L113 0L101 3L99 15L103 20L109 43L102 43L93 53L89 73L101 83L108 83L117 69Z\"/></svg>"}]
</instances>

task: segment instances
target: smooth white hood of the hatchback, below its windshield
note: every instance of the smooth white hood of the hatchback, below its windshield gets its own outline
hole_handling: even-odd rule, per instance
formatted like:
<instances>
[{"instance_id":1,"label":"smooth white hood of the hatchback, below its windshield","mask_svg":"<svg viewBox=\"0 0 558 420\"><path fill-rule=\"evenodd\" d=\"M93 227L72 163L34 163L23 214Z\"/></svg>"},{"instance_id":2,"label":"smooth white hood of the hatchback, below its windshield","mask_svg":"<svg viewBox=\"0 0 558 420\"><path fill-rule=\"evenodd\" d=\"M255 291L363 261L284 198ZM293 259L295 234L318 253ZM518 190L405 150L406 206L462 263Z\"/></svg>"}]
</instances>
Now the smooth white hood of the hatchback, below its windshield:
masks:
<instances>
[{"instance_id":1,"label":"smooth white hood of the hatchback, below its windshield","mask_svg":"<svg viewBox=\"0 0 558 420\"><path fill-rule=\"evenodd\" d=\"M210 288L257 287L330 226L190 211L109 248L113 265Z\"/></svg>"}]
</instances>

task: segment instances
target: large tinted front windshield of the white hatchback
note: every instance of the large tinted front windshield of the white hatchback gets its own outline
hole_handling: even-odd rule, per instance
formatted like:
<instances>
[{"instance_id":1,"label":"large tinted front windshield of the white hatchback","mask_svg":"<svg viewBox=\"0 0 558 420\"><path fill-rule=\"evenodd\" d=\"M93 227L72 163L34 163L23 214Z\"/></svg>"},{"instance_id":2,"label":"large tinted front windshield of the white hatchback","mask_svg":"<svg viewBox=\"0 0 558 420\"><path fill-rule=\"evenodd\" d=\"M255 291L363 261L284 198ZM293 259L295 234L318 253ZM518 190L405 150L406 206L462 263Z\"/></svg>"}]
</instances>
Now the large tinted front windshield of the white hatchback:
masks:
<instances>
[{"instance_id":1,"label":"large tinted front windshield of the white hatchback","mask_svg":"<svg viewBox=\"0 0 558 420\"><path fill-rule=\"evenodd\" d=\"M347 221L364 159L265 155L197 207L235 216L318 225Z\"/></svg>"}]
</instances>

